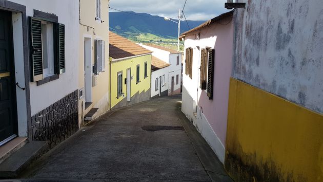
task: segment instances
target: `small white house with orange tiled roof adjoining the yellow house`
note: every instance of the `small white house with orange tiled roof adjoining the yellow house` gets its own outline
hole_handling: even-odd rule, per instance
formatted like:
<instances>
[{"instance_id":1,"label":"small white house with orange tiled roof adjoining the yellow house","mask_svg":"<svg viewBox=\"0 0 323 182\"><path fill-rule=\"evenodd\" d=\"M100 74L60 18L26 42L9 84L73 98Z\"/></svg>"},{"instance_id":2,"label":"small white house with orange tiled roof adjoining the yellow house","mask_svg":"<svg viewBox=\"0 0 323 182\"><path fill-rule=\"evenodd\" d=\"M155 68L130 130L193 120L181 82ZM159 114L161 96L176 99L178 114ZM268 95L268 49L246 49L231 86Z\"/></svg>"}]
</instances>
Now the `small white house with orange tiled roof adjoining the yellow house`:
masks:
<instances>
[{"instance_id":1,"label":"small white house with orange tiled roof adjoining the yellow house","mask_svg":"<svg viewBox=\"0 0 323 182\"><path fill-rule=\"evenodd\" d=\"M168 95L168 75L170 64L154 56L151 60L151 97Z\"/></svg>"}]
</instances>

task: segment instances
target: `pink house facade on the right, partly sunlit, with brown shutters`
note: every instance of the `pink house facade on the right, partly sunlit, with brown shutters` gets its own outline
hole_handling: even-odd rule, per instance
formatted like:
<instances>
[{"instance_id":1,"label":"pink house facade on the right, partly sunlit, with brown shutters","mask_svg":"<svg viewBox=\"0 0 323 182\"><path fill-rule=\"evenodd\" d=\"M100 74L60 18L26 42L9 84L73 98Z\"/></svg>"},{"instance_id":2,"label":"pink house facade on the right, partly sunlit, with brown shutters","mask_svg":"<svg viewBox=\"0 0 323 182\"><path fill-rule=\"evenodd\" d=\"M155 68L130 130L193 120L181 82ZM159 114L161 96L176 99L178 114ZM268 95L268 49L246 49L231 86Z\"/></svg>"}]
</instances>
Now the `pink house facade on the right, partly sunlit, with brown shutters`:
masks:
<instances>
[{"instance_id":1,"label":"pink house facade on the right, partly sunlit, with brown shutters","mask_svg":"<svg viewBox=\"0 0 323 182\"><path fill-rule=\"evenodd\" d=\"M214 17L184 32L179 38L185 40L185 50L191 52L184 53L186 61L183 65L181 111L193 122L222 163L225 160L229 82L232 72L232 14L230 11ZM209 53L204 54L205 51ZM204 74L208 78L204 88L201 86L201 55L207 55ZM209 62L212 60L210 66ZM211 76L208 75L213 77L209 78Z\"/></svg>"}]
</instances>

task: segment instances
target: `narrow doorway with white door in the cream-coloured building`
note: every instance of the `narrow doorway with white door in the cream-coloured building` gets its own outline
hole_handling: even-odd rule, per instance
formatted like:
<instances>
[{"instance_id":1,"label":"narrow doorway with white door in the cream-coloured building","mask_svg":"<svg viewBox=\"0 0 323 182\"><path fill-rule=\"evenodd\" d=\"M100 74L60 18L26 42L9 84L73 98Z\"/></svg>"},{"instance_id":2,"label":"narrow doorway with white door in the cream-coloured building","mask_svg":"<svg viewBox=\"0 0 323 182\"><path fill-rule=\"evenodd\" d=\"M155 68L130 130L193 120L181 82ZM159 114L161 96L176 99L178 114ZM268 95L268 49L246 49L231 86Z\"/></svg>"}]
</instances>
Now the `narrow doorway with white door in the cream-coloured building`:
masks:
<instances>
[{"instance_id":1,"label":"narrow doorway with white door in the cream-coloured building","mask_svg":"<svg viewBox=\"0 0 323 182\"><path fill-rule=\"evenodd\" d=\"M85 106L92 103L92 39L84 38L84 98Z\"/></svg>"}]
</instances>

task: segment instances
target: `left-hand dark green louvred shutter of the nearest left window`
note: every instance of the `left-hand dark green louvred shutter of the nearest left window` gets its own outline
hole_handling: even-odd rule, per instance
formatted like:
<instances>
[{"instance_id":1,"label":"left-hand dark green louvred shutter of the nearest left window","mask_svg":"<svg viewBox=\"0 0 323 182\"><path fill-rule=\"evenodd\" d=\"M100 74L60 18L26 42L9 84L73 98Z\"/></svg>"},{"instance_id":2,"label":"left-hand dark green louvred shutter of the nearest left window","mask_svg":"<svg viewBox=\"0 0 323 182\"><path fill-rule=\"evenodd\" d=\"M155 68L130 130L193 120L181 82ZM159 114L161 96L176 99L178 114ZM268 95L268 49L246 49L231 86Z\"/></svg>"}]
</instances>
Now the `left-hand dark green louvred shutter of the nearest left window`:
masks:
<instances>
[{"instance_id":1,"label":"left-hand dark green louvred shutter of the nearest left window","mask_svg":"<svg viewBox=\"0 0 323 182\"><path fill-rule=\"evenodd\" d=\"M42 21L29 17L31 38L31 81L43 80Z\"/></svg>"}]
</instances>

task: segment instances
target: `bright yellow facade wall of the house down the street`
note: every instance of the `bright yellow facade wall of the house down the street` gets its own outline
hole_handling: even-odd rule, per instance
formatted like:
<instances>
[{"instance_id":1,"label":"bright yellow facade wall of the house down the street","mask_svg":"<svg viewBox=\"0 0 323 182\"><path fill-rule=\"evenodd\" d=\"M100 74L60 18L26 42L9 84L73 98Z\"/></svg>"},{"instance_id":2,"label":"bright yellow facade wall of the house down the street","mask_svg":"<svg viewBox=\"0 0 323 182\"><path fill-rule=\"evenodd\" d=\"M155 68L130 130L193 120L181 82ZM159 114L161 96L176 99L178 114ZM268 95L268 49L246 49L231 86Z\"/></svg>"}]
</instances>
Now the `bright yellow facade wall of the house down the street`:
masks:
<instances>
[{"instance_id":1,"label":"bright yellow facade wall of the house down the street","mask_svg":"<svg viewBox=\"0 0 323 182\"><path fill-rule=\"evenodd\" d=\"M135 95L138 91L146 92L150 89L150 80L151 80L151 54L145 56L139 56L131 59L124 59L119 61L111 61L111 108L115 106L118 102L122 101L127 97L127 85L125 84L125 78L127 78L127 69L131 68L131 97ZM147 62L147 78L144 78L145 74L145 62ZM137 64L139 64L139 74L140 82L136 84L136 70ZM123 93L125 97L117 98L117 72L123 71Z\"/></svg>"}]
</instances>

